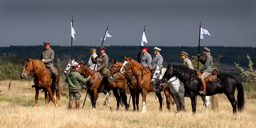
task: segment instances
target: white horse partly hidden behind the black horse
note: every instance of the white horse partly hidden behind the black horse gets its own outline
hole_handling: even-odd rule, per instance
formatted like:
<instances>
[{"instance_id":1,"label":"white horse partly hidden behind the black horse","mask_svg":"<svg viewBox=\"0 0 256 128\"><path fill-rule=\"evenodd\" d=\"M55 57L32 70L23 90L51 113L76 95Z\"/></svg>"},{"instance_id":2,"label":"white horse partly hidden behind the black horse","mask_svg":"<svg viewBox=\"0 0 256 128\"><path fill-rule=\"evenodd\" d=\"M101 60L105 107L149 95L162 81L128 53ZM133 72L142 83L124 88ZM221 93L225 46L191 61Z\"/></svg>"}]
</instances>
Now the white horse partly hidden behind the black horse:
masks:
<instances>
[{"instance_id":1,"label":"white horse partly hidden behind the black horse","mask_svg":"<svg viewBox=\"0 0 256 128\"><path fill-rule=\"evenodd\" d=\"M156 80L161 80L164 76L165 71L166 71L166 68L163 68L163 66L161 68L157 66L155 73L151 79L151 84L155 85ZM180 111L179 102L181 101L182 108L184 112L186 112L185 102L184 102L184 94L185 94L184 84L178 78L176 78L176 76L169 79L167 84L170 85L171 93L175 98L177 111ZM179 97L180 97L180 101L179 101ZM189 97L188 94L186 95L186 97ZM206 108L205 111L207 112L210 105L209 96L201 96L201 98L205 104L205 108ZM205 98L205 101L204 101L204 98Z\"/></svg>"}]
</instances>

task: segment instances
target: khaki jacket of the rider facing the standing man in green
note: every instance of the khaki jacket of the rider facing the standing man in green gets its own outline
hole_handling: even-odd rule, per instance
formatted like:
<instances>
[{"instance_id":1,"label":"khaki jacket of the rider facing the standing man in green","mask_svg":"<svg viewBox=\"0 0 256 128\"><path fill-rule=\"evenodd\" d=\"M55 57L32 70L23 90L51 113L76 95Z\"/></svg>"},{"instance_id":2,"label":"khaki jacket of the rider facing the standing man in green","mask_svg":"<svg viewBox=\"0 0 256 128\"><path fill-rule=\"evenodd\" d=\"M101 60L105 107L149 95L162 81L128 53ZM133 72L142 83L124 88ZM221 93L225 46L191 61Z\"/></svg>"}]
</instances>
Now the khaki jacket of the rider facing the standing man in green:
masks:
<instances>
[{"instance_id":1,"label":"khaki jacket of the rider facing the standing man in green","mask_svg":"<svg viewBox=\"0 0 256 128\"><path fill-rule=\"evenodd\" d=\"M108 71L108 55L106 53L104 53L102 56L99 55L97 57L95 57L94 59L92 59L92 63L96 63L98 68L97 70L103 74L106 74ZM97 62L96 62L97 61Z\"/></svg>"}]
</instances>

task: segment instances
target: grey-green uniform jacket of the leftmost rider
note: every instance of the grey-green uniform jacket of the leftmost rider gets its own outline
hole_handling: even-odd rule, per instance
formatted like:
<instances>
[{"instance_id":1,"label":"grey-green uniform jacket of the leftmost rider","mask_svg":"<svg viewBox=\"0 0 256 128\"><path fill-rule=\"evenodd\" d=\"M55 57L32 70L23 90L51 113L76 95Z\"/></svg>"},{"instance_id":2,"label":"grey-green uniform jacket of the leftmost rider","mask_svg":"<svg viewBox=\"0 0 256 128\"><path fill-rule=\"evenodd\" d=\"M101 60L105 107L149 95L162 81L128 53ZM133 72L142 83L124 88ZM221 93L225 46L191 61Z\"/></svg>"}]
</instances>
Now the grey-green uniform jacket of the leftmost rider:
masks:
<instances>
[{"instance_id":1,"label":"grey-green uniform jacket of the leftmost rider","mask_svg":"<svg viewBox=\"0 0 256 128\"><path fill-rule=\"evenodd\" d=\"M46 50L45 48L42 50L40 60L44 59L44 64L47 66L53 66L54 59L54 50L49 48Z\"/></svg>"}]
</instances>

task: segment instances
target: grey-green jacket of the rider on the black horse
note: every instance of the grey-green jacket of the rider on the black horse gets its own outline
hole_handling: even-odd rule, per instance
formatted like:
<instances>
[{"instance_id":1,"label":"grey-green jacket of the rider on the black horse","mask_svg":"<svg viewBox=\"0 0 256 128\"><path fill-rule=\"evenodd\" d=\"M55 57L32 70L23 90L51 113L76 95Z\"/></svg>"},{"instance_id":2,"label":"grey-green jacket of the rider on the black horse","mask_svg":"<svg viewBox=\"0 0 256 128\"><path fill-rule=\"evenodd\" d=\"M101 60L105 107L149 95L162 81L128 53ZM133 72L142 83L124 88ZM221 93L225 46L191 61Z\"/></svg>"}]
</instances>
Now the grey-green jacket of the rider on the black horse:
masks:
<instances>
[{"instance_id":1,"label":"grey-green jacket of the rider on the black horse","mask_svg":"<svg viewBox=\"0 0 256 128\"><path fill-rule=\"evenodd\" d=\"M203 66L198 69L199 72L212 72L212 56L206 54L204 60L201 58L199 60Z\"/></svg>"}]
</instances>

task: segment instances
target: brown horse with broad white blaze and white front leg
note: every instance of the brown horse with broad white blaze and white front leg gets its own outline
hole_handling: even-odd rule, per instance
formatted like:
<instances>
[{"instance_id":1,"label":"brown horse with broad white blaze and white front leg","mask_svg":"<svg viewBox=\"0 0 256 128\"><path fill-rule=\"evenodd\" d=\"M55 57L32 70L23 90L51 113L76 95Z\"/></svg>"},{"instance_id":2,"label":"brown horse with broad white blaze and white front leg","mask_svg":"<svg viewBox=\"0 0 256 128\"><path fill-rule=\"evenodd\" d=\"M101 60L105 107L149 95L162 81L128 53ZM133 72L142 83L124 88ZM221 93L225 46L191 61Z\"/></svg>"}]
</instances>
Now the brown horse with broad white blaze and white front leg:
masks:
<instances>
[{"instance_id":1,"label":"brown horse with broad white blaze and white front leg","mask_svg":"<svg viewBox=\"0 0 256 128\"><path fill-rule=\"evenodd\" d=\"M124 74L128 70L132 70L132 75L135 76L137 80L137 88L139 89L141 95L142 95L142 113L146 112L146 97L148 92L152 92L153 86L150 82L150 70L146 68L145 66L141 65L140 63L136 62L135 60L132 59L132 57L126 58L124 57L125 61L120 69L120 73ZM125 68L125 69L124 69ZM170 92L169 86L164 85L164 94L167 99L168 103L168 109L170 111ZM160 91L163 91L163 88L160 87ZM156 93L156 96L158 97L160 108L159 110L162 111L162 104L163 104L163 98L161 96L161 93Z\"/></svg>"}]
</instances>

